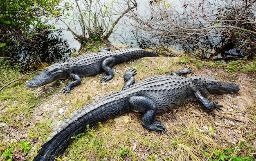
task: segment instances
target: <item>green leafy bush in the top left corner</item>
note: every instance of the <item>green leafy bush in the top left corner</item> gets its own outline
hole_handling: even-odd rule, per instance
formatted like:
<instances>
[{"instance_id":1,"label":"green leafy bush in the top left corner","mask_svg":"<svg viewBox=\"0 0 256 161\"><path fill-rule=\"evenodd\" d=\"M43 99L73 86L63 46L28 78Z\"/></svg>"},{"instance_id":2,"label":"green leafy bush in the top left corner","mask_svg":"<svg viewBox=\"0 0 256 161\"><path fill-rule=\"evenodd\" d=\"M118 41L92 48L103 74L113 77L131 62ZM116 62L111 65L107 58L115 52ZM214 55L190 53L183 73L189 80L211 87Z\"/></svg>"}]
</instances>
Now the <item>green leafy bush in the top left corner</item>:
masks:
<instances>
[{"instance_id":1,"label":"green leafy bush in the top left corner","mask_svg":"<svg viewBox=\"0 0 256 161\"><path fill-rule=\"evenodd\" d=\"M54 28L46 24L58 0L0 0L0 56L11 57L25 41Z\"/></svg>"}]
</instances>

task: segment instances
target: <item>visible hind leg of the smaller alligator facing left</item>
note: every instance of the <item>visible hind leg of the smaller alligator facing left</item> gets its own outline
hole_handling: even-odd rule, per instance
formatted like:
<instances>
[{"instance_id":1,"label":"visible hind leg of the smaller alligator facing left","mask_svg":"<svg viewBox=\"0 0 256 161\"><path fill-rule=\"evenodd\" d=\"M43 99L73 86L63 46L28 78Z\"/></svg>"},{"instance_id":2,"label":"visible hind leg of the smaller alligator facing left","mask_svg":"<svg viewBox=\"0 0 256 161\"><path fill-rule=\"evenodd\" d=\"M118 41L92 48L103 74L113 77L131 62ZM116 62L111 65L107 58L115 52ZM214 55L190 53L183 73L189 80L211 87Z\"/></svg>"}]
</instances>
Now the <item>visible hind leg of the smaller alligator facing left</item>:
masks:
<instances>
[{"instance_id":1,"label":"visible hind leg of the smaller alligator facing left","mask_svg":"<svg viewBox=\"0 0 256 161\"><path fill-rule=\"evenodd\" d=\"M111 69L111 67L115 65L115 60L115 57L108 57L102 61L101 67L107 74L101 78L101 80L99 81L100 83L106 82L107 80L113 78L114 71Z\"/></svg>"}]
</instances>

